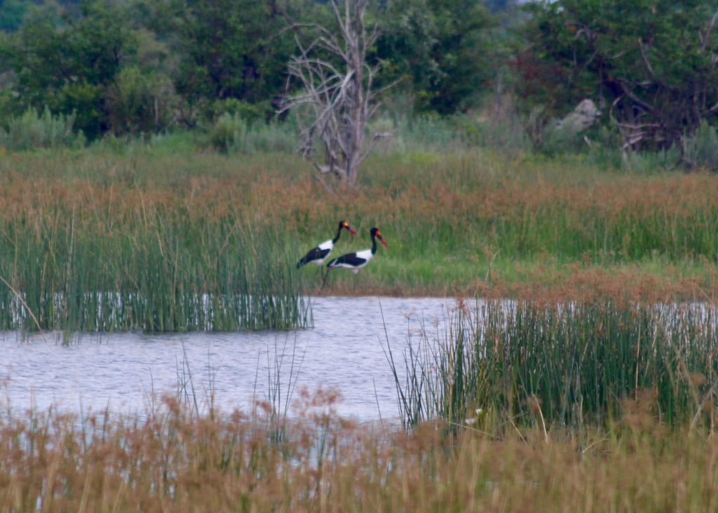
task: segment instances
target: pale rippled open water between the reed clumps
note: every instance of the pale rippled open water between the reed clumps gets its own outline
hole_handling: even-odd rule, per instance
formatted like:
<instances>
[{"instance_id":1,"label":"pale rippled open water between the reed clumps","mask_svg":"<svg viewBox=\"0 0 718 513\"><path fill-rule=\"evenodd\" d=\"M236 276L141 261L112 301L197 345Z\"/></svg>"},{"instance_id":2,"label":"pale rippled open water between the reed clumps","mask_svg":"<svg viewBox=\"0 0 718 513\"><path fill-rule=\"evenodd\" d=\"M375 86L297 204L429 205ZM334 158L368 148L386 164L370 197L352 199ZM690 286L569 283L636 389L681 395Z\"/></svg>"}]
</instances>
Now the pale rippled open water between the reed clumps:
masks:
<instances>
[{"instance_id":1,"label":"pale rippled open water between the reed clumps","mask_svg":"<svg viewBox=\"0 0 718 513\"><path fill-rule=\"evenodd\" d=\"M360 419L398 415L396 387L382 345L398 367L410 331L441 323L453 300L443 298L313 298L314 329L261 333L84 335L62 344L57 334L22 339L0 334L0 403L14 410L141 413L151 397L177 391L192 377L200 401L214 391L220 408L248 410L279 375L300 387L335 388L337 410ZM386 327L386 332L385 332ZM281 364L279 373L274 371ZM190 390L187 387L187 390Z\"/></svg>"}]
</instances>

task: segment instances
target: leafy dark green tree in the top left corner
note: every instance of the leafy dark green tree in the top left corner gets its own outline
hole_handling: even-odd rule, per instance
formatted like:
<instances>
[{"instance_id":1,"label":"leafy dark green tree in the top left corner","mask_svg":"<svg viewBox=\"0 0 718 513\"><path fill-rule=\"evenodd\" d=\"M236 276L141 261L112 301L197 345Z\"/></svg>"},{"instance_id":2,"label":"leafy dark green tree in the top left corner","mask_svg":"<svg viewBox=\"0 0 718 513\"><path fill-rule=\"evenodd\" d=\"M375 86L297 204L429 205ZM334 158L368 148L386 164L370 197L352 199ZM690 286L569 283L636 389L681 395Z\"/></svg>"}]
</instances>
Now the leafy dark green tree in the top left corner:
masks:
<instances>
[{"instance_id":1,"label":"leafy dark green tree in the top left corner","mask_svg":"<svg viewBox=\"0 0 718 513\"><path fill-rule=\"evenodd\" d=\"M123 11L101 1L83 1L78 17L33 11L0 48L16 75L18 108L75 113L75 126L88 138L108 130L106 90L135 53Z\"/></svg>"}]
</instances>

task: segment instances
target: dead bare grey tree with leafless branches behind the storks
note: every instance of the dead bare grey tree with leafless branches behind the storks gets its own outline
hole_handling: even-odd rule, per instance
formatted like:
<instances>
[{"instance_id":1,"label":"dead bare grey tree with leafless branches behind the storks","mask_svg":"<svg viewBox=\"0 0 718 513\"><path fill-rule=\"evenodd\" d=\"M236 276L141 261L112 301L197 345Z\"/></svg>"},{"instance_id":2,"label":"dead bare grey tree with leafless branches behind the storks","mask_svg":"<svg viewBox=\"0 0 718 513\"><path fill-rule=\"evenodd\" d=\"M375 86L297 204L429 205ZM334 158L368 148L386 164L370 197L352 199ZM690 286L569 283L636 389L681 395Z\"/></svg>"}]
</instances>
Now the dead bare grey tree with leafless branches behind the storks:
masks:
<instances>
[{"instance_id":1,"label":"dead bare grey tree with leafless branches behind the storks","mask_svg":"<svg viewBox=\"0 0 718 513\"><path fill-rule=\"evenodd\" d=\"M330 192L354 187L360 164L387 133L367 133L379 106L376 88L379 62L367 52L378 27L366 22L369 0L330 0L334 26L289 19L299 55L289 62L289 79L302 92L284 98L279 112L292 110L300 127L302 155ZM387 86L388 87L388 86ZM320 146L320 149L317 149Z\"/></svg>"}]
</instances>

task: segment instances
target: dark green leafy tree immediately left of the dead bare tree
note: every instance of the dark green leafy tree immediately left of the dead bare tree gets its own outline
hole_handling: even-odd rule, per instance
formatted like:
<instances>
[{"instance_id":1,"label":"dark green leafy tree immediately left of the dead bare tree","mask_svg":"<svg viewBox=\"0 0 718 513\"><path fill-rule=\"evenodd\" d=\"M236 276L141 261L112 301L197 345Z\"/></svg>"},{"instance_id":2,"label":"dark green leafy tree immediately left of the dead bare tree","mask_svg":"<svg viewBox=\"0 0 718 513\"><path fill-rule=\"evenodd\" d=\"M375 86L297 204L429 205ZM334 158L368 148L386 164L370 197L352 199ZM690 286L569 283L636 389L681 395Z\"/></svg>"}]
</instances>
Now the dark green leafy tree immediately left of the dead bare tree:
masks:
<instances>
[{"instance_id":1,"label":"dark green leafy tree immediately left of the dead bare tree","mask_svg":"<svg viewBox=\"0 0 718 513\"><path fill-rule=\"evenodd\" d=\"M271 116L294 48L275 1L164 0L149 9L151 27L179 56L174 80L189 105L221 113L217 103L234 99Z\"/></svg>"}]
</instances>

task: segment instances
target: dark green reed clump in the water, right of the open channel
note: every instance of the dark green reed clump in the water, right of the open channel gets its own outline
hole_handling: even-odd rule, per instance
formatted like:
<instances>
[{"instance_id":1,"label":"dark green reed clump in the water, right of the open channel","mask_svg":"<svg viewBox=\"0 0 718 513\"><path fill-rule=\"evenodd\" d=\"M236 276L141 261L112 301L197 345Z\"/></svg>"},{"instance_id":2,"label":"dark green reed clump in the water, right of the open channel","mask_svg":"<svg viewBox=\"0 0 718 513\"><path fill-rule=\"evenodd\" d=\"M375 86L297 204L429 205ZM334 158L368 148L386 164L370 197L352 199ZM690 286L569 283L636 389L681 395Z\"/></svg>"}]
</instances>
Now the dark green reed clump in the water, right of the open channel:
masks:
<instances>
[{"instance_id":1,"label":"dark green reed clump in the water, right of the open channel","mask_svg":"<svg viewBox=\"0 0 718 513\"><path fill-rule=\"evenodd\" d=\"M410 345L406 382L393 361L404 425L480 416L505 425L606 427L627 401L668 425L714 428L718 337L712 306L611 299L478 301L447 331ZM478 416L477 416L478 415Z\"/></svg>"}]
</instances>

